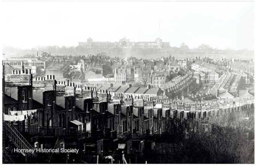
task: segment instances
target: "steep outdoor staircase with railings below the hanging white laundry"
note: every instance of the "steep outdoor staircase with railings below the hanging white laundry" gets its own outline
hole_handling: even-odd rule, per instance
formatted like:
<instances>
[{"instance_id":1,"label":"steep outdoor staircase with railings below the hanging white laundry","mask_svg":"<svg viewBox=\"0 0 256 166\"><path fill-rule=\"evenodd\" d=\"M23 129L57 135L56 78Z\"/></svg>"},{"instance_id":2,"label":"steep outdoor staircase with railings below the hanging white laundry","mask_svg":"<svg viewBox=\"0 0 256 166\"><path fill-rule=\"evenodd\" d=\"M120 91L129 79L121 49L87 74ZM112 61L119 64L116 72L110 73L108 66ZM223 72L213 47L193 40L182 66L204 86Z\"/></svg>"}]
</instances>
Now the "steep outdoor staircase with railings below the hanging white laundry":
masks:
<instances>
[{"instance_id":1,"label":"steep outdoor staircase with railings below the hanging white laundry","mask_svg":"<svg viewBox=\"0 0 256 166\"><path fill-rule=\"evenodd\" d=\"M5 121L4 124L6 137L8 137L18 149L34 149L12 123ZM26 157L36 156L34 153L21 152L21 154Z\"/></svg>"}]
</instances>

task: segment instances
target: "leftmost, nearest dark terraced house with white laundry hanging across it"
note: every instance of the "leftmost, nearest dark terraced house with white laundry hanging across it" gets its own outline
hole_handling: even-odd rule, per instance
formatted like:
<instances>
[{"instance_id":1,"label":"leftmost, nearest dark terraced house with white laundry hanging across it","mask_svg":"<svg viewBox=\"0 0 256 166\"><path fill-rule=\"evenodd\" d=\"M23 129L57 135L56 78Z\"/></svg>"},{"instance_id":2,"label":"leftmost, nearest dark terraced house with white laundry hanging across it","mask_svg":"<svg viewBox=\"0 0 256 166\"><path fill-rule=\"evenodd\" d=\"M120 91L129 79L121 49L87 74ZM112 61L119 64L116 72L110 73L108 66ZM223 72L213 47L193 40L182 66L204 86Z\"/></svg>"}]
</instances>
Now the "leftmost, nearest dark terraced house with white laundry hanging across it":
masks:
<instances>
[{"instance_id":1,"label":"leftmost, nearest dark terraced house with white laundry hanging across it","mask_svg":"<svg viewBox=\"0 0 256 166\"><path fill-rule=\"evenodd\" d=\"M34 109L31 70L13 70L3 78L3 147L5 150L10 147L36 148L39 146L38 110ZM9 157L13 156L16 156L13 159L16 162L30 163L37 154L14 152Z\"/></svg>"}]
</instances>

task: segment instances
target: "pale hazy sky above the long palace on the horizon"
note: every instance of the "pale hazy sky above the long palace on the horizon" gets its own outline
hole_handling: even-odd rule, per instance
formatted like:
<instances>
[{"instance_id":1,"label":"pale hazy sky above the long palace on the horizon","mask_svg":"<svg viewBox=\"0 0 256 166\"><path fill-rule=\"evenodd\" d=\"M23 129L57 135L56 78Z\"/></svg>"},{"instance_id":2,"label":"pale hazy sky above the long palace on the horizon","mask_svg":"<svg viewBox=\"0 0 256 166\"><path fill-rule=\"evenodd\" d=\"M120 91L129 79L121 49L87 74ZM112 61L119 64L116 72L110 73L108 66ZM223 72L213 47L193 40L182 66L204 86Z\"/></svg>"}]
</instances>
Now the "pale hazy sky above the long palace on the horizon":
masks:
<instances>
[{"instance_id":1,"label":"pale hazy sky above the long palace on the horizon","mask_svg":"<svg viewBox=\"0 0 256 166\"><path fill-rule=\"evenodd\" d=\"M154 41L254 49L254 2L2 2L3 44ZM160 31L159 31L160 22Z\"/></svg>"}]
</instances>

